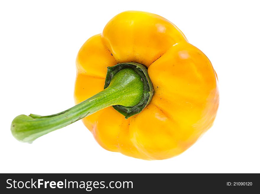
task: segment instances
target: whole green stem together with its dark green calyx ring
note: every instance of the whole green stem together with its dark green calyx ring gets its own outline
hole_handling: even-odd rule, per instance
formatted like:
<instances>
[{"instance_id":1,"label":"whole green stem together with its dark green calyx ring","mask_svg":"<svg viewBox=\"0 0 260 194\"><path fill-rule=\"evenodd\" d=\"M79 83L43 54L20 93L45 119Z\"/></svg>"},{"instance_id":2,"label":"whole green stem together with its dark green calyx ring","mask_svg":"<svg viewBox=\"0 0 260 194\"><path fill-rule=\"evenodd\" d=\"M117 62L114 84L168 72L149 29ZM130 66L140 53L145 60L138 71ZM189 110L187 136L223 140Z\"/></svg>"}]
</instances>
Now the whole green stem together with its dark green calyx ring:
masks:
<instances>
[{"instance_id":1,"label":"whole green stem together with its dark green calyx ring","mask_svg":"<svg viewBox=\"0 0 260 194\"><path fill-rule=\"evenodd\" d=\"M11 132L17 140L32 143L40 136L109 106L129 118L149 104L152 94L152 82L145 66L132 62L120 63L108 67L103 91L58 114L19 115L12 121Z\"/></svg>"}]
</instances>

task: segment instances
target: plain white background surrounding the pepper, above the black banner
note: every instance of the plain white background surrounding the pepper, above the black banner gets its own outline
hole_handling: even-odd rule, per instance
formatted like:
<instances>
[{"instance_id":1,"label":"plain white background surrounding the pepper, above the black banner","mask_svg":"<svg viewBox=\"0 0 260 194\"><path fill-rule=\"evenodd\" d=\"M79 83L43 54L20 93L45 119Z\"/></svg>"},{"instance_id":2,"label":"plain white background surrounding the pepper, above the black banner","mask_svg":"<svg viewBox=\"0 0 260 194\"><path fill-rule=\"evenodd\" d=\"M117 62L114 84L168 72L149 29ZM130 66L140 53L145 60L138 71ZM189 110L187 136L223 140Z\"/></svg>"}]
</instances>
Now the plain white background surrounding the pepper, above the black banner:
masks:
<instances>
[{"instance_id":1,"label":"plain white background surrounding the pepper, above the black banner","mask_svg":"<svg viewBox=\"0 0 260 194\"><path fill-rule=\"evenodd\" d=\"M213 127L162 161L106 151L81 121L33 144L13 138L15 116L74 105L79 48L126 10L165 17L211 60L220 86ZM1 1L0 172L259 173L259 18L257 1Z\"/></svg>"}]
</instances>

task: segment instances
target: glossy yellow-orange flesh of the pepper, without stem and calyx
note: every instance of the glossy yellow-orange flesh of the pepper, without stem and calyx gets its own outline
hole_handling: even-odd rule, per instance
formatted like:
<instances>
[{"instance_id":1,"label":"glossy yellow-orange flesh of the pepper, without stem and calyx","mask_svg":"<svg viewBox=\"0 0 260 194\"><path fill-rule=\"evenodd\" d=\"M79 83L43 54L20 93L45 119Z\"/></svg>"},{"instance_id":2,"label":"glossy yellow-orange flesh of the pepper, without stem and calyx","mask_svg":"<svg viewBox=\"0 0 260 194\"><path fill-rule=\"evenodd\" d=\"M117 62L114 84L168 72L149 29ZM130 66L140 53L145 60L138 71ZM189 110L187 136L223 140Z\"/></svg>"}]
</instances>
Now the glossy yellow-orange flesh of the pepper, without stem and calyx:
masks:
<instances>
[{"instance_id":1,"label":"glossy yellow-orange flesh of the pepper, without stem and calyx","mask_svg":"<svg viewBox=\"0 0 260 194\"><path fill-rule=\"evenodd\" d=\"M108 107L83 119L98 143L140 159L167 159L188 149L211 126L219 105L215 71L167 19L147 12L116 15L77 56L75 102L103 90L108 66L148 67L155 89L145 109L128 119Z\"/></svg>"}]
</instances>

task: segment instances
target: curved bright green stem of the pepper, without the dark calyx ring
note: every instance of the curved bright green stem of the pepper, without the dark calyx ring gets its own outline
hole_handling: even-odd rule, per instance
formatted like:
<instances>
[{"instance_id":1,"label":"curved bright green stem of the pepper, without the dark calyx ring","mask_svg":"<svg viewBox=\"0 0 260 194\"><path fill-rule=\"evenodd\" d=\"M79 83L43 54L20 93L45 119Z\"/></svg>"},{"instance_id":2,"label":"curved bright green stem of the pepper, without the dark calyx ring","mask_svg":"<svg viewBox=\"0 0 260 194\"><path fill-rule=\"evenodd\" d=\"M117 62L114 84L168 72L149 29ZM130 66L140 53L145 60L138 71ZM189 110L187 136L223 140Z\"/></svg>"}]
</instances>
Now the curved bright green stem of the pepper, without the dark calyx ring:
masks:
<instances>
[{"instance_id":1,"label":"curved bright green stem of the pepper, without the dark calyx ring","mask_svg":"<svg viewBox=\"0 0 260 194\"><path fill-rule=\"evenodd\" d=\"M36 138L63 128L103 108L137 105L143 97L144 84L141 76L132 68L119 71L109 86L78 105L49 116L19 115L12 121L13 136L22 142L32 143Z\"/></svg>"}]
</instances>

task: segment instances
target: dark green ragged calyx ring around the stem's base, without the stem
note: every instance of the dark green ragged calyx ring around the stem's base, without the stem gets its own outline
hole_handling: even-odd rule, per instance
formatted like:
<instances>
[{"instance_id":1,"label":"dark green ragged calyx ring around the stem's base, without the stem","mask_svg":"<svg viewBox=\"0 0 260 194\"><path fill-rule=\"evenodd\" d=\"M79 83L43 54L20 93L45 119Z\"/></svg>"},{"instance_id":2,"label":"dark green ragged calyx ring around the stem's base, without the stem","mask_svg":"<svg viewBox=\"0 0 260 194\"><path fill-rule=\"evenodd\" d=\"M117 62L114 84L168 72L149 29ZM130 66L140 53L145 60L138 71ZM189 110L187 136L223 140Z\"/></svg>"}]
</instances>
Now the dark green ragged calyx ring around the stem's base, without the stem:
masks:
<instances>
[{"instance_id":1,"label":"dark green ragged calyx ring around the stem's base, without the stem","mask_svg":"<svg viewBox=\"0 0 260 194\"><path fill-rule=\"evenodd\" d=\"M133 69L141 77L141 80L143 81L144 84L143 96L137 105L133 105L133 106L113 105L114 109L116 109L119 113L124 115L125 118L127 119L133 115L141 113L144 107L146 107L152 100L152 95L154 90L152 86L152 81L148 76L147 67L142 64L134 63L134 62L119 63L115 66L108 67L104 89L109 86L113 77L119 71L125 68Z\"/></svg>"}]
</instances>

